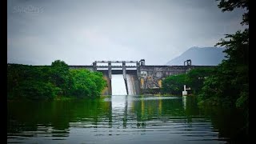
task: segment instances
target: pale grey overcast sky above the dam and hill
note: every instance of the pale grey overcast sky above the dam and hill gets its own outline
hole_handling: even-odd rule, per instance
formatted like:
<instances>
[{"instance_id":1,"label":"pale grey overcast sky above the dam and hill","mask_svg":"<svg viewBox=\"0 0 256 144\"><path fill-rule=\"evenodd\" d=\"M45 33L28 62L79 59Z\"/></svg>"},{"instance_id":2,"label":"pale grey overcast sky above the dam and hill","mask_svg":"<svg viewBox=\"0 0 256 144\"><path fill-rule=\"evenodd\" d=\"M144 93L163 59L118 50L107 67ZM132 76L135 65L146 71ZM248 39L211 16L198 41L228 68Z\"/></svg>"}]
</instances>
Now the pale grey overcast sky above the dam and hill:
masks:
<instances>
[{"instance_id":1,"label":"pale grey overcast sky above the dam and hill","mask_svg":"<svg viewBox=\"0 0 256 144\"><path fill-rule=\"evenodd\" d=\"M165 65L244 27L215 0L8 0L7 62L69 65L140 60Z\"/></svg>"}]
</instances>

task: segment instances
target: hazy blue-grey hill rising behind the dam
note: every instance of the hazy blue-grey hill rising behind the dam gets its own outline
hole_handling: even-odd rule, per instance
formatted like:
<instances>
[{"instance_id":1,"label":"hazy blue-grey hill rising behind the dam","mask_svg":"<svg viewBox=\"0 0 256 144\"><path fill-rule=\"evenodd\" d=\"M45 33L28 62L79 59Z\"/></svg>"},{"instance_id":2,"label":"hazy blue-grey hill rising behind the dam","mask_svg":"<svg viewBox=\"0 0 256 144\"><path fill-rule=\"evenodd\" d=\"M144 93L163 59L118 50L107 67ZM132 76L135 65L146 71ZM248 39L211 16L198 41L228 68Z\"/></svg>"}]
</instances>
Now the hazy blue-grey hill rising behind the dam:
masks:
<instances>
[{"instance_id":1,"label":"hazy blue-grey hill rising behind the dam","mask_svg":"<svg viewBox=\"0 0 256 144\"><path fill-rule=\"evenodd\" d=\"M217 66L225 59L226 53L221 47L191 47L183 54L166 63L168 66L183 66L184 61L191 59L192 65L196 66Z\"/></svg>"}]
</instances>

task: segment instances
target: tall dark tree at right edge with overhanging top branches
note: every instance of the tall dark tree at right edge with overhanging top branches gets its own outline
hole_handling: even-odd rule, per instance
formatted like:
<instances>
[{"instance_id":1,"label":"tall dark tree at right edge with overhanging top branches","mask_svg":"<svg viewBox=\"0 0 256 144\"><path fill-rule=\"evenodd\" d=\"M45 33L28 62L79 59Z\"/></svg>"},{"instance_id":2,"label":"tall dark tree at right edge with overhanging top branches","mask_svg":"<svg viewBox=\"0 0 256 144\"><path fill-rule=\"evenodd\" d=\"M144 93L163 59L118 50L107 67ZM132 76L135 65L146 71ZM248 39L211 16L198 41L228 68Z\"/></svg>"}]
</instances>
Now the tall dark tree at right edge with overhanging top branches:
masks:
<instances>
[{"instance_id":1,"label":"tall dark tree at right edge with overhanging top branches","mask_svg":"<svg viewBox=\"0 0 256 144\"><path fill-rule=\"evenodd\" d=\"M222 11L232 11L236 7L247 10L243 14L242 25L249 24L248 0L221 0L218 7ZM249 28L238 30L235 34L226 34L226 40L221 39L216 46L225 46L227 59L216 70L216 73L206 79L199 99L201 103L218 103L227 106L237 106L248 112L249 101Z\"/></svg>"}]
</instances>

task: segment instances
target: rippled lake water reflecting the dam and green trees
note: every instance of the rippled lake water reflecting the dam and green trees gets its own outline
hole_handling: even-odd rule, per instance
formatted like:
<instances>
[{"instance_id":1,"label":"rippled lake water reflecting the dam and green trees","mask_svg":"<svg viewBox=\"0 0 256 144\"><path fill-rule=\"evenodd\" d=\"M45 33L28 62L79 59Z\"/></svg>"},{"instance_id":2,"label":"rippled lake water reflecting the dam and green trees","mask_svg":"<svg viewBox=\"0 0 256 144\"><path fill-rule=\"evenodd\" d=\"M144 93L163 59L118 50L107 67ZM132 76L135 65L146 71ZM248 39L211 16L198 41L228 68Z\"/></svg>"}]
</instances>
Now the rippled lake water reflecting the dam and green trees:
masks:
<instances>
[{"instance_id":1,"label":"rippled lake water reflecting the dam and green trees","mask_svg":"<svg viewBox=\"0 0 256 144\"><path fill-rule=\"evenodd\" d=\"M193 97L117 95L68 102L8 102L7 142L229 142L240 125L227 124L231 111L214 110L199 110Z\"/></svg>"}]
</instances>

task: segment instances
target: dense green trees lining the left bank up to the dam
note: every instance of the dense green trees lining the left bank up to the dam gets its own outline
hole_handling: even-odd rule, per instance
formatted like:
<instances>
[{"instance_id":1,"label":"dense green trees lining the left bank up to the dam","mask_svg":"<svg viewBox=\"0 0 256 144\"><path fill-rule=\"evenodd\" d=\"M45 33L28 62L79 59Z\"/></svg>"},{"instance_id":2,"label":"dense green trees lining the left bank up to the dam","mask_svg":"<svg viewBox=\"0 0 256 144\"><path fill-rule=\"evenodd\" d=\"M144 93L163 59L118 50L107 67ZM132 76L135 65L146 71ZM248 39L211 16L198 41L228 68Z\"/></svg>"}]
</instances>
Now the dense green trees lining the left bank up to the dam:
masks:
<instances>
[{"instance_id":1,"label":"dense green trees lining the left bank up to the dam","mask_svg":"<svg viewBox=\"0 0 256 144\"><path fill-rule=\"evenodd\" d=\"M7 97L52 99L97 97L106 86L99 72L70 70L60 60L51 66L7 65Z\"/></svg>"}]
</instances>

